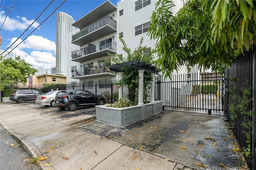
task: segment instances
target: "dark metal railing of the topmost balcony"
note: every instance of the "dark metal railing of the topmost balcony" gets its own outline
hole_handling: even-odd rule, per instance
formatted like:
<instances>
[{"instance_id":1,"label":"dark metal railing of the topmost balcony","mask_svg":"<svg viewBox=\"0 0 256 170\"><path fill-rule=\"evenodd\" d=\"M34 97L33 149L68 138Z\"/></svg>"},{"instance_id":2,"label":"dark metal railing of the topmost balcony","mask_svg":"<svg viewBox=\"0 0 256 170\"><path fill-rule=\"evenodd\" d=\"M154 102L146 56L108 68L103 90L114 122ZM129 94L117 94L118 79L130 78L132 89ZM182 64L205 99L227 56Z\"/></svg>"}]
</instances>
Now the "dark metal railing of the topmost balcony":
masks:
<instances>
[{"instance_id":1,"label":"dark metal railing of the topmost balcony","mask_svg":"<svg viewBox=\"0 0 256 170\"><path fill-rule=\"evenodd\" d=\"M110 16L105 16L101 18L100 20L94 22L93 24L89 25L86 28L83 28L80 32L77 32L76 34L72 35L72 41L77 40L78 38L81 38L85 36L86 34L89 34L103 26L110 25L113 28L116 29L116 21L110 18Z\"/></svg>"}]
</instances>

